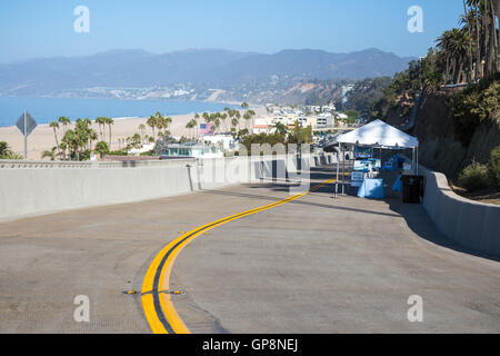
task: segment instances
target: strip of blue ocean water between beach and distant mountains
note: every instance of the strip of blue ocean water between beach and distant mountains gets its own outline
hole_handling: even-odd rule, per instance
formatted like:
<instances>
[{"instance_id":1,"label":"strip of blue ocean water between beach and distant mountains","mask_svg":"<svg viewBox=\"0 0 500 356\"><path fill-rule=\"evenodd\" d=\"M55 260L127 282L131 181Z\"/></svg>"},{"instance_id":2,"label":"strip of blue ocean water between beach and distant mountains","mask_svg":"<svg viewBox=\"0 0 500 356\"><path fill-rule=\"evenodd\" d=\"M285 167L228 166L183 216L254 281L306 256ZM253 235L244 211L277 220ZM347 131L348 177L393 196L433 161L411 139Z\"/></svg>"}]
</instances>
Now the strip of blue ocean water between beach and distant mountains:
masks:
<instances>
[{"instance_id":1,"label":"strip of blue ocean water between beach and distant mountains","mask_svg":"<svg viewBox=\"0 0 500 356\"><path fill-rule=\"evenodd\" d=\"M0 127L16 125L24 110L41 125L58 120L61 116L71 121L78 118L94 120L100 116L114 119L142 118L157 111L163 116L173 116L222 111L224 107L237 108L234 105L204 101L0 97Z\"/></svg>"}]
</instances>

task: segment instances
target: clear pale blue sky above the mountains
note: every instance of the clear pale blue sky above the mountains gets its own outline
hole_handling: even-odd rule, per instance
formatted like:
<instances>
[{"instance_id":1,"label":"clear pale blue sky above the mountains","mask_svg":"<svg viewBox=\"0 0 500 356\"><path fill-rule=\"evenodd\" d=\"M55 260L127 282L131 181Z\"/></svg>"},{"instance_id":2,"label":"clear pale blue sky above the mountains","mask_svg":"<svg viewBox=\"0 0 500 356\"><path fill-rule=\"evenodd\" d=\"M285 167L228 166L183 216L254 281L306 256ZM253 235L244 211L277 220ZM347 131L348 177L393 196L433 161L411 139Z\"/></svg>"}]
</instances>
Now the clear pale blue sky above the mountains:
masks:
<instances>
[{"instance_id":1,"label":"clear pale blue sky above the mountains","mask_svg":"<svg viewBox=\"0 0 500 356\"><path fill-rule=\"evenodd\" d=\"M90 10L89 33L73 30L78 6ZM423 10L422 33L407 29L411 6ZM462 0L1 0L0 62L111 49L377 47L423 56L462 11Z\"/></svg>"}]
</instances>

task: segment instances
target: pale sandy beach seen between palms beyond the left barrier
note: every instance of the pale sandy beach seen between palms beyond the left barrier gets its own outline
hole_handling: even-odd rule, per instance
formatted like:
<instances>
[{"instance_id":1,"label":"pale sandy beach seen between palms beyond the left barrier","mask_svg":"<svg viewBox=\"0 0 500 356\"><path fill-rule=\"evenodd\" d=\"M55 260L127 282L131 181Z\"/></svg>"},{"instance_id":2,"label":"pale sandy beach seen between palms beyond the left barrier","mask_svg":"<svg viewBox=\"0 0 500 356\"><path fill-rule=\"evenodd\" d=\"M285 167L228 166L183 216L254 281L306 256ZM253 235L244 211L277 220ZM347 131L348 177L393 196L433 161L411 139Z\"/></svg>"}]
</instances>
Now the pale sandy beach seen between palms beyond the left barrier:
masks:
<instances>
[{"instance_id":1,"label":"pale sandy beach seen between palms beyond the left barrier","mask_svg":"<svg viewBox=\"0 0 500 356\"><path fill-rule=\"evenodd\" d=\"M266 109L262 107L252 109L256 111L257 117L266 112ZM186 123L188 123L188 121L191 120L193 117L194 117L193 113L171 116L172 123L170 125L170 131L172 136L176 138L180 138L181 136L188 136L188 129L186 129ZM127 137L130 137L133 134L140 134L139 125L141 123L146 126L144 134L152 136L152 129L146 123L147 120L148 118L114 120L114 125L112 125L111 127L112 132L111 150L120 149L119 139L126 139ZM229 125L229 119L227 121ZM242 126L244 125L243 121L244 119L240 120ZM202 123L203 119L200 118L198 122ZM99 135L99 126L92 123L92 128ZM59 128L59 130L57 130L57 134L58 140L60 141L63 136L62 126ZM158 135L158 129L156 129L156 135ZM108 142L108 140L109 140L109 131L108 127L106 127L104 141ZM23 154L24 151L23 136L16 126L0 128L0 141L7 141L14 152ZM44 150L50 150L54 146L56 139L53 136L52 128L50 128L49 125L39 125L33 130L33 132L31 132L31 135L28 137L28 159L41 160L42 152Z\"/></svg>"}]
</instances>

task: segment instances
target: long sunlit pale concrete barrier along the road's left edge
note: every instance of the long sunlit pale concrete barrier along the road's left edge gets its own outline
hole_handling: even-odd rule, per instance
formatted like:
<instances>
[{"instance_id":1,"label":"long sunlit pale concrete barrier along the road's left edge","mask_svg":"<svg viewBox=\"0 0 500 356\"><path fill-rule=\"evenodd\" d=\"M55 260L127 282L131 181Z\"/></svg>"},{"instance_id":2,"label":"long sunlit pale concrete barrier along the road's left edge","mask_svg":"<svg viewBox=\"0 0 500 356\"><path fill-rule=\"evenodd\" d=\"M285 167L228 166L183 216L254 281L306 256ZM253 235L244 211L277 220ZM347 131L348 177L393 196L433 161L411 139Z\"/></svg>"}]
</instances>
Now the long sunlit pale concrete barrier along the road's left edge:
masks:
<instances>
[{"instance_id":1,"label":"long sunlit pale concrete barrier along the road's left edge","mask_svg":"<svg viewBox=\"0 0 500 356\"><path fill-rule=\"evenodd\" d=\"M332 155L307 155L303 161L316 167L316 162L336 160L328 156ZM123 162L0 160L0 219L217 189L273 178L283 169L284 158L276 156Z\"/></svg>"}]
</instances>

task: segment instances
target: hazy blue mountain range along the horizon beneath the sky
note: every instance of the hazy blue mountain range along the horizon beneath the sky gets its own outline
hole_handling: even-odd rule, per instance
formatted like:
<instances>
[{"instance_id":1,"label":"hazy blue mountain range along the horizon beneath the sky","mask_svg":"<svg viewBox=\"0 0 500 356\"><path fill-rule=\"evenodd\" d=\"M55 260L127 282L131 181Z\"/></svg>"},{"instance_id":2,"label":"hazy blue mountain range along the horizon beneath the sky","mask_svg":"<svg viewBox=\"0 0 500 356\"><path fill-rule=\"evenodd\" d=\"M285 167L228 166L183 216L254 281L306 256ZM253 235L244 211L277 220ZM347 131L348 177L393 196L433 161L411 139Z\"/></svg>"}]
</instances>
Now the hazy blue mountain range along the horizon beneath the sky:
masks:
<instances>
[{"instance_id":1,"label":"hazy blue mountain range along the horizon beneath the sky","mask_svg":"<svg viewBox=\"0 0 500 356\"><path fill-rule=\"evenodd\" d=\"M273 55L222 49L163 55L112 50L84 57L38 58L0 65L0 95L43 96L97 87L227 88L256 82L356 80L392 76L406 69L412 59L374 48L350 53L302 49Z\"/></svg>"}]
</instances>

